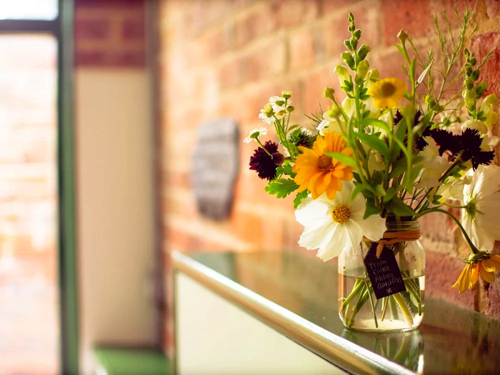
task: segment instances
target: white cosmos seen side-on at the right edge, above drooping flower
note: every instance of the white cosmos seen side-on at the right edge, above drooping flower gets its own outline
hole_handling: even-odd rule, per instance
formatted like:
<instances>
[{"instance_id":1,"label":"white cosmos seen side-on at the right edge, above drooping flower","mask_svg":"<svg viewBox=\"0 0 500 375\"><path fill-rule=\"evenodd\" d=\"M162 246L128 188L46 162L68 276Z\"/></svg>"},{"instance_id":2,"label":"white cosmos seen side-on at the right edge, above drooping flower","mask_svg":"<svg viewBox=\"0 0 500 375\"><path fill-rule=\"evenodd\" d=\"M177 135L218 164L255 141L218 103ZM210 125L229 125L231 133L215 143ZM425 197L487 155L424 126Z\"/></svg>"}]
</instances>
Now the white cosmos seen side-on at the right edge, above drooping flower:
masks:
<instances>
[{"instance_id":1,"label":"white cosmos seen side-on at the right edge, above drooping flower","mask_svg":"<svg viewBox=\"0 0 500 375\"><path fill-rule=\"evenodd\" d=\"M471 183L463 187L463 228L480 250L491 251L500 240L500 166L479 165L467 174Z\"/></svg>"}]
</instances>

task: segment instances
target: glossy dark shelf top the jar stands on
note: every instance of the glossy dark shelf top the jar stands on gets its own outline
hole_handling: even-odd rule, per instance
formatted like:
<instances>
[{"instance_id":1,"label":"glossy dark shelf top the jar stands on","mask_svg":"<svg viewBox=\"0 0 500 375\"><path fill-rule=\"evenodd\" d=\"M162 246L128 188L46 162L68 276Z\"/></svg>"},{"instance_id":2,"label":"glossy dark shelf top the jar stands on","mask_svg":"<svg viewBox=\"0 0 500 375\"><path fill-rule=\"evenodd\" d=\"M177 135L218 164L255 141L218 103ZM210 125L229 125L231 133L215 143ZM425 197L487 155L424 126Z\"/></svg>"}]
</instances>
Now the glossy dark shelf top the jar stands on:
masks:
<instances>
[{"instance_id":1,"label":"glossy dark shelf top the jar stands on","mask_svg":"<svg viewBox=\"0 0 500 375\"><path fill-rule=\"evenodd\" d=\"M323 263L287 251L200 255L190 256L336 337L413 373L498 373L500 369L496 354L500 351L500 319L428 298L418 329L358 332L345 328L338 317L338 276L333 261ZM224 264L220 271L218 264ZM230 265L233 271L228 271Z\"/></svg>"}]
</instances>

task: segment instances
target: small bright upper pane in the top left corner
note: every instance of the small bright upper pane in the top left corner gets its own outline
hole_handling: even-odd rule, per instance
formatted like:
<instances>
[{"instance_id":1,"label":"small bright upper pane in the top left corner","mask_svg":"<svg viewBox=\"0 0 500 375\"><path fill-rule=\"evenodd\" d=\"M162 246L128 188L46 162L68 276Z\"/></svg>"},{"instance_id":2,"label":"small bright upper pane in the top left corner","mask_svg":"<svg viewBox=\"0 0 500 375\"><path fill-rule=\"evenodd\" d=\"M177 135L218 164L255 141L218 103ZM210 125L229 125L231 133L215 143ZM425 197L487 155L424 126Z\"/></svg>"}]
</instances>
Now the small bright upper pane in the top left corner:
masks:
<instances>
[{"instance_id":1,"label":"small bright upper pane in the top left corner","mask_svg":"<svg viewBox=\"0 0 500 375\"><path fill-rule=\"evenodd\" d=\"M0 19L54 19L57 0L0 0Z\"/></svg>"}]
</instances>

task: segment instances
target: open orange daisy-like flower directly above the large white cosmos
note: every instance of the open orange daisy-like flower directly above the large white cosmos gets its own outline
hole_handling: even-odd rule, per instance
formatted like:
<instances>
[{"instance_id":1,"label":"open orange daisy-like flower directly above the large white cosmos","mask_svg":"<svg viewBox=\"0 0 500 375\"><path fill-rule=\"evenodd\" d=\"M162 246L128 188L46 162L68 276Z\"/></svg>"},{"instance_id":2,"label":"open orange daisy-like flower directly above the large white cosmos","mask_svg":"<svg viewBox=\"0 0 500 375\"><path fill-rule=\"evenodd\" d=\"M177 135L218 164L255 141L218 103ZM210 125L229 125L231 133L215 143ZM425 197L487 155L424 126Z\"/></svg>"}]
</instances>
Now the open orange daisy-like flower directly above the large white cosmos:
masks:
<instances>
[{"instance_id":1,"label":"open orange daisy-like flower directly above the large white cosmos","mask_svg":"<svg viewBox=\"0 0 500 375\"><path fill-rule=\"evenodd\" d=\"M298 191L308 189L312 199L316 199L326 192L328 199L333 199L335 192L342 188L342 180L352 179L354 168L342 164L338 160L326 156L327 152L341 152L352 154L340 133L334 131L323 136L318 135L311 148L299 146L303 153L297 156L293 171L297 173L294 178L299 185Z\"/></svg>"}]
</instances>

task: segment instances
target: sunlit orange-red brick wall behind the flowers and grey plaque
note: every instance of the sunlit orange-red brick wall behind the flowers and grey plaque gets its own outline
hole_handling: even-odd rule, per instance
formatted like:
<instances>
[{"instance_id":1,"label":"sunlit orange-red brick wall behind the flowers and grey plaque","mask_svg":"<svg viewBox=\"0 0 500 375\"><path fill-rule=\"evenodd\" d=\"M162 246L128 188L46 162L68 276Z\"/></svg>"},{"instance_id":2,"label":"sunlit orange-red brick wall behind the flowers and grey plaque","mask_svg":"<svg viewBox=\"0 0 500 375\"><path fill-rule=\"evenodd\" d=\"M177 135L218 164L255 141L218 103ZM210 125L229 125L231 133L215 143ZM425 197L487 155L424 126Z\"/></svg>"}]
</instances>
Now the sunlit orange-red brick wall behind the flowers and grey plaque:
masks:
<instances>
[{"instance_id":1,"label":"sunlit orange-red brick wall behind the flowers and grey plaque","mask_svg":"<svg viewBox=\"0 0 500 375\"><path fill-rule=\"evenodd\" d=\"M494 49L484 76L500 92L500 2L458 0L477 12L479 30L471 47L480 57ZM338 88L333 67L340 63L348 36L347 14L362 29L369 62L381 76L400 75L401 57L392 46L404 28L416 45L435 46L432 13L452 11L441 0L168 0L160 6L161 33L161 206L164 250L299 248L302 227L295 222L292 201L264 192L265 181L248 170L255 143L240 146L240 173L229 219L201 217L190 185L195 130L201 121L219 116L238 121L241 139L261 122L257 114L268 97L293 91L294 121L314 111L326 85ZM498 135L500 128L494 129ZM499 153L500 155L500 153ZM272 218L272 219L270 219ZM500 283L458 294L450 286L466 255L450 219L428 215L421 220L427 249L430 296L500 317ZM312 255L315 252L310 252ZM168 269L168 258L165 267ZM169 295L171 296L171 290ZM167 310L165 347L172 348L171 304Z\"/></svg>"}]
</instances>

